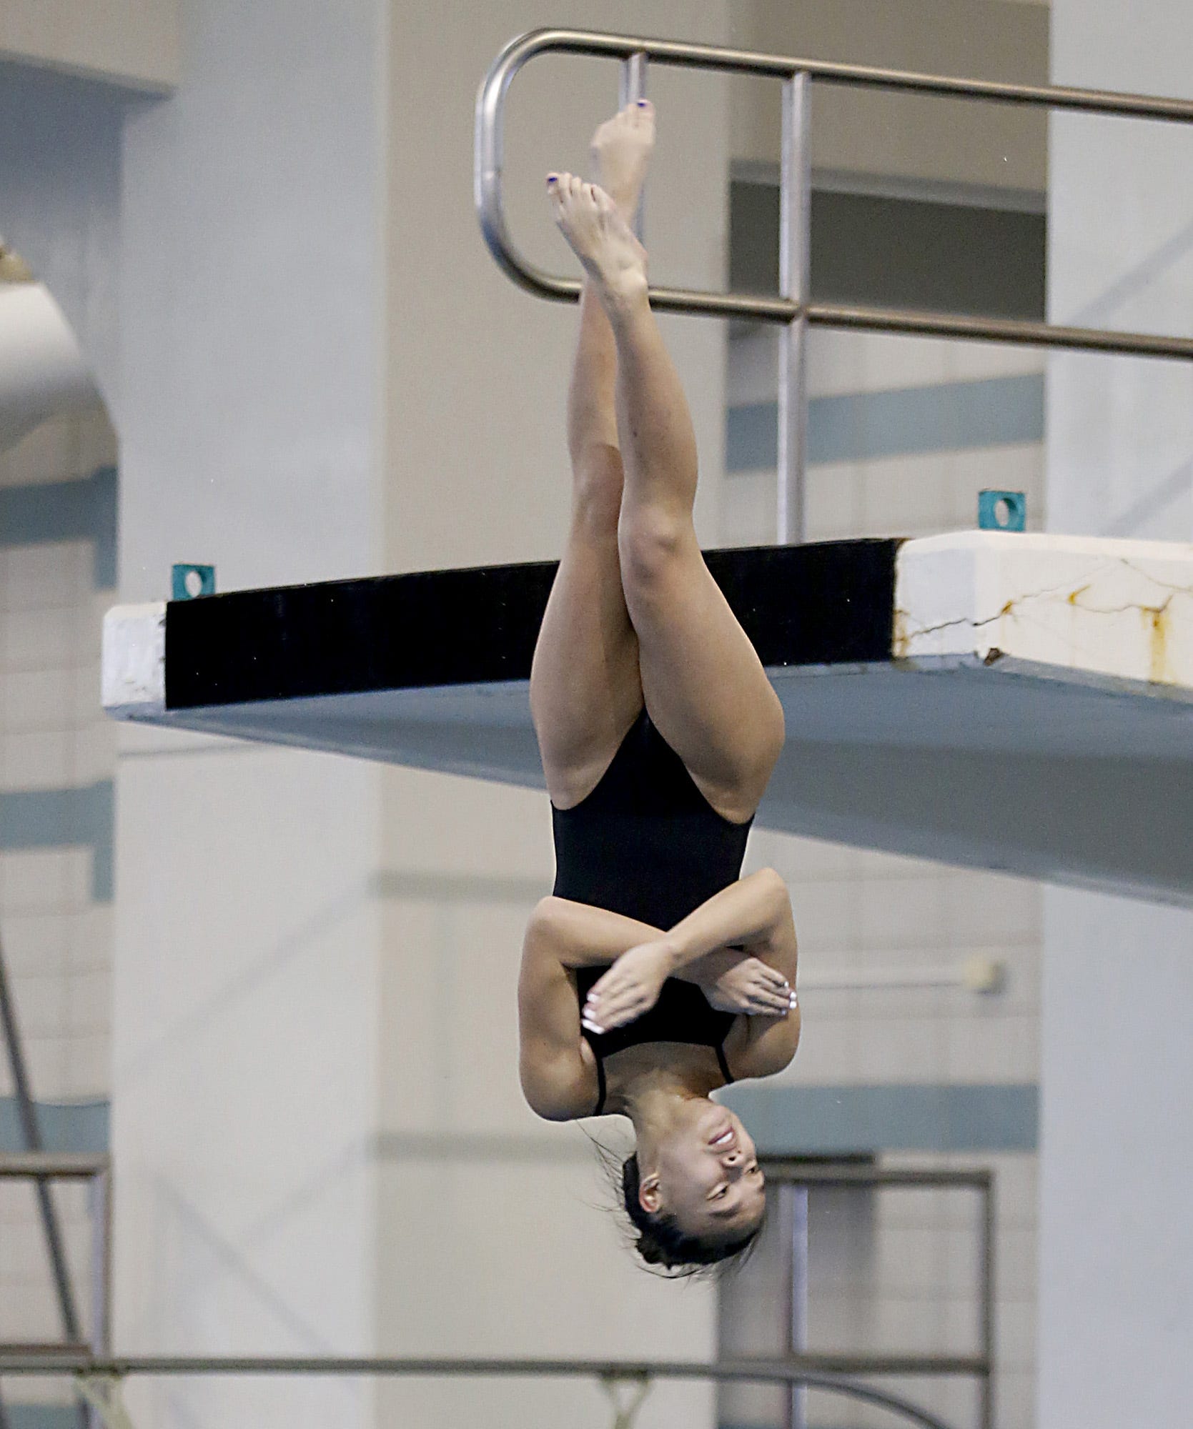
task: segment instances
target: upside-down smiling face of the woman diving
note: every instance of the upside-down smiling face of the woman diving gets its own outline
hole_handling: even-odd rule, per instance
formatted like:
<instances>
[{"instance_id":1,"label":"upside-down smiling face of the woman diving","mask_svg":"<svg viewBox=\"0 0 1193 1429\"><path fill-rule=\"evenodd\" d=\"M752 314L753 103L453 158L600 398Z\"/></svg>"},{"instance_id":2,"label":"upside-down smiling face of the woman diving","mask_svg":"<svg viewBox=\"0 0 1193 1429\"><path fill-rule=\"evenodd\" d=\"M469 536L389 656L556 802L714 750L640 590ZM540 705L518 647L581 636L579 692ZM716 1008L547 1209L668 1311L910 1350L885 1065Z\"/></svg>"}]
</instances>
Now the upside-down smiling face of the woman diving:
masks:
<instances>
[{"instance_id":1,"label":"upside-down smiling face of the woman diving","mask_svg":"<svg viewBox=\"0 0 1193 1429\"><path fill-rule=\"evenodd\" d=\"M642 1179L642 1206L672 1215L689 1236L740 1240L767 1203L754 1142L728 1107L688 1106L691 1113L657 1147L652 1175Z\"/></svg>"}]
</instances>

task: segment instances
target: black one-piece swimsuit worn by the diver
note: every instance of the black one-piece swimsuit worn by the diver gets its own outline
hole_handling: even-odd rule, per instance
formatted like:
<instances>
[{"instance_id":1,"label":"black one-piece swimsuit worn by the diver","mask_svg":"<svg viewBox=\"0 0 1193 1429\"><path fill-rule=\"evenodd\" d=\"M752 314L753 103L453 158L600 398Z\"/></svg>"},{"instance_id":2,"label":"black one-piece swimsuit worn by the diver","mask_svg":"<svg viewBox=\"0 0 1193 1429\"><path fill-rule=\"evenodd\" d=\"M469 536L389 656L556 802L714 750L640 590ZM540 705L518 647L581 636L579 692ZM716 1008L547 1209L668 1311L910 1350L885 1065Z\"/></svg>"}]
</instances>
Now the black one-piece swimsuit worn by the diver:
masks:
<instances>
[{"instance_id":1,"label":"black one-piece swimsuit worn by the diver","mask_svg":"<svg viewBox=\"0 0 1193 1429\"><path fill-rule=\"evenodd\" d=\"M645 709L592 793L574 809L552 806L551 817L555 895L664 930L740 877L750 835L750 823L731 823L708 803ZM581 1006L604 972L576 969ZM592 1115L605 1109L605 1057L642 1042L712 1047L732 1082L724 1052L732 1023L699 987L668 977L654 1007L628 1026L584 1029L599 1085Z\"/></svg>"}]
</instances>

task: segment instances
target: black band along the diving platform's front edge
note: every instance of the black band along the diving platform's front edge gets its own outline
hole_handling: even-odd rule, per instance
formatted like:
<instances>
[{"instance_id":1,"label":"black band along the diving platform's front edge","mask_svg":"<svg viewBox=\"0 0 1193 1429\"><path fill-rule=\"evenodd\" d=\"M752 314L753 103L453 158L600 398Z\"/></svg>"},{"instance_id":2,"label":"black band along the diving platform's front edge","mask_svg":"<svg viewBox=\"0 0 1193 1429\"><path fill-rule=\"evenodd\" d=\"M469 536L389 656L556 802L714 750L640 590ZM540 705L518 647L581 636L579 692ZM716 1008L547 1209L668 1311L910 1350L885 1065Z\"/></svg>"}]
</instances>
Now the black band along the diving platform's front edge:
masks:
<instances>
[{"instance_id":1,"label":"black band along the diving platform's front edge","mask_svg":"<svg viewBox=\"0 0 1193 1429\"><path fill-rule=\"evenodd\" d=\"M705 552L764 664L888 660L898 540ZM166 707L525 680L554 562L240 590L166 607Z\"/></svg>"}]
</instances>

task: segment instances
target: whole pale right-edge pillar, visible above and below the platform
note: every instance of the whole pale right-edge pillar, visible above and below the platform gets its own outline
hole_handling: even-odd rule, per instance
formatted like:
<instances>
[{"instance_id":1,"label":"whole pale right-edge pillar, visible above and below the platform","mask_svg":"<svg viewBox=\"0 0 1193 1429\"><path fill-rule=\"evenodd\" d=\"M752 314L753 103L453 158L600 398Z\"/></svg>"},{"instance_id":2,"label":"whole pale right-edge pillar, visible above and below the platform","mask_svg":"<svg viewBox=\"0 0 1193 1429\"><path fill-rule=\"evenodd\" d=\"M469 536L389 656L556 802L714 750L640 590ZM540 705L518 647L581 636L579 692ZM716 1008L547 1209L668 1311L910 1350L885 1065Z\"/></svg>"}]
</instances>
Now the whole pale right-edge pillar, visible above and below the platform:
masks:
<instances>
[{"instance_id":1,"label":"whole pale right-edge pillar, visible above and below the platform","mask_svg":"<svg viewBox=\"0 0 1193 1429\"><path fill-rule=\"evenodd\" d=\"M1173 0L1054 0L1061 84L1193 96ZM1190 332L1193 134L1054 117L1050 317ZM1050 359L1054 530L1189 540L1187 363ZM1189 1035L1193 916L1044 897L1041 1429L1179 1423L1193 1395Z\"/></svg>"}]
</instances>

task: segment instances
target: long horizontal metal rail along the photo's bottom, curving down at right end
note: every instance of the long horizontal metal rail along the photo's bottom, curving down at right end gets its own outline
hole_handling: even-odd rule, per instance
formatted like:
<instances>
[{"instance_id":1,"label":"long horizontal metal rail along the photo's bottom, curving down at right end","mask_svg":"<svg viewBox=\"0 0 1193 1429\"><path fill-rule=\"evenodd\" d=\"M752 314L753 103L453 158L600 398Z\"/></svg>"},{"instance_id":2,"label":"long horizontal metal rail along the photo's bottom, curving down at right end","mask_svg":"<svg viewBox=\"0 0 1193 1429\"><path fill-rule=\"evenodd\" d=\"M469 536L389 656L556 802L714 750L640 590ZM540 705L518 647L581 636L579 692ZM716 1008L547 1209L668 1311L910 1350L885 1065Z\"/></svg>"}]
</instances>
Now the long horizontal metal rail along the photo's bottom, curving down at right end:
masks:
<instances>
[{"instance_id":1,"label":"long horizontal metal rail along the photo's bottom, curving down at right end","mask_svg":"<svg viewBox=\"0 0 1193 1429\"><path fill-rule=\"evenodd\" d=\"M74 1375L80 1378L126 1379L134 1375L335 1375L335 1376L469 1376L469 1378L594 1378L599 1380L642 1379L707 1379L722 1382L751 1382L768 1385L805 1385L827 1393L861 1399L903 1415L921 1429L950 1429L950 1426L920 1405L878 1389L802 1369L782 1362L724 1362L694 1360L618 1360L618 1359L416 1359L376 1358L352 1359L336 1356L170 1356L127 1355L94 1358L86 1355L0 1355L0 1375Z\"/></svg>"}]
</instances>

